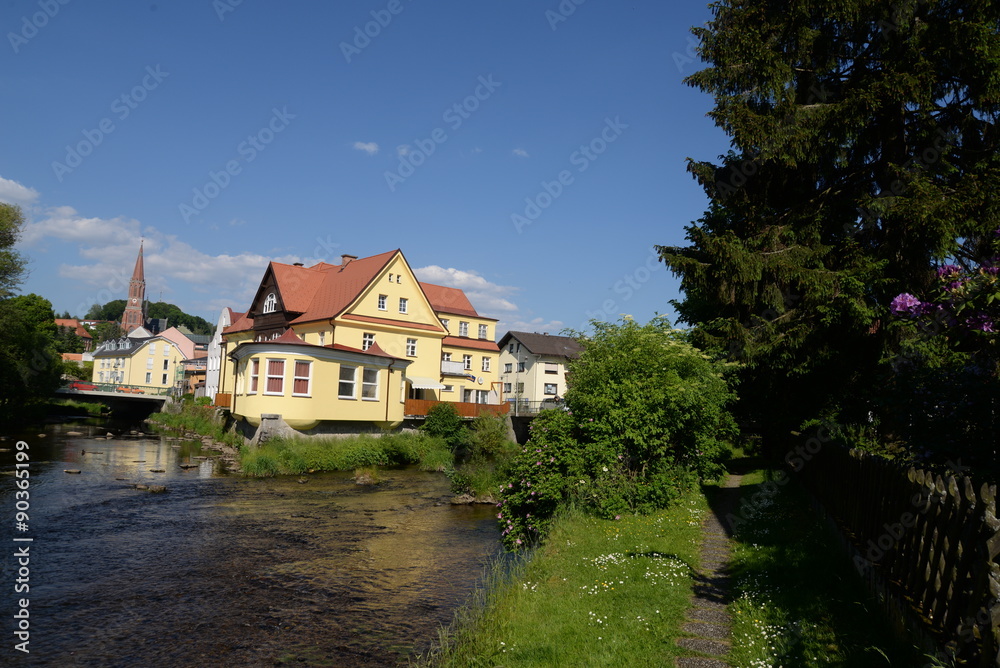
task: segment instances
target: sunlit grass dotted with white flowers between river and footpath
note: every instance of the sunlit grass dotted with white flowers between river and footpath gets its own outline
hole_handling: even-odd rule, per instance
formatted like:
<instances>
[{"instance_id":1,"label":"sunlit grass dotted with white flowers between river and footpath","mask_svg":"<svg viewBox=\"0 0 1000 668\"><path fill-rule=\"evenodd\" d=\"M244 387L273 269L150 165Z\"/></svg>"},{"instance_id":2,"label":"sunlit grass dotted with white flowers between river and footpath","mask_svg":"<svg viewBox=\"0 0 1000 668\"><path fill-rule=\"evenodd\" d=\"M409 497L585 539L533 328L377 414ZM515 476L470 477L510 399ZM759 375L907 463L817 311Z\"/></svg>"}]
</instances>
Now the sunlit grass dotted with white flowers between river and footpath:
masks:
<instances>
[{"instance_id":1,"label":"sunlit grass dotted with white flowers between river and footpath","mask_svg":"<svg viewBox=\"0 0 1000 668\"><path fill-rule=\"evenodd\" d=\"M427 666L672 665L690 605L705 497L647 516L568 513L442 632ZM627 658L626 658L627 657Z\"/></svg>"}]
</instances>

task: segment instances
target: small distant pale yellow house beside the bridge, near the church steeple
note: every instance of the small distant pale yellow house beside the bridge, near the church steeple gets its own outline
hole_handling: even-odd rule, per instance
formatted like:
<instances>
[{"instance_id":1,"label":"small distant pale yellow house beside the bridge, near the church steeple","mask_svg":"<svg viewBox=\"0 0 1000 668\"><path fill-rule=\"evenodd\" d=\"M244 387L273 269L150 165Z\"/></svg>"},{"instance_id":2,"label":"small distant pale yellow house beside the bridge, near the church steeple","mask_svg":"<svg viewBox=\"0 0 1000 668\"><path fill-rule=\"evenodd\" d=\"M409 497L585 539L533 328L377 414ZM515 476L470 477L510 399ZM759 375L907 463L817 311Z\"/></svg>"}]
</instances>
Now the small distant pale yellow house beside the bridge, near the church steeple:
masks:
<instances>
[{"instance_id":1,"label":"small distant pale yellow house beside the bridge, near the church steeple","mask_svg":"<svg viewBox=\"0 0 1000 668\"><path fill-rule=\"evenodd\" d=\"M165 394L183 380L185 358L180 346L162 336L112 339L94 352L92 382Z\"/></svg>"}]
</instances>

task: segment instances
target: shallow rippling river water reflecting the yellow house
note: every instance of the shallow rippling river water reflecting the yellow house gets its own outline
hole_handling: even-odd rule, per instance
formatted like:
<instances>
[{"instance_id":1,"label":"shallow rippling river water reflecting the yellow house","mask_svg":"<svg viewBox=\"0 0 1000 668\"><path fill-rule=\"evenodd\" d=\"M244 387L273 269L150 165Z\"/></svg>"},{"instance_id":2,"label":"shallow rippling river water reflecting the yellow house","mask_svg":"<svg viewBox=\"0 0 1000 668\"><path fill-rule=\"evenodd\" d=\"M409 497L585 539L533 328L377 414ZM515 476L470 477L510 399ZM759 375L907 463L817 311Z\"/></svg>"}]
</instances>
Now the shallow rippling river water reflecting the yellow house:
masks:
<instances>
[{"instance_id":1,"label":"shallow rippling river water reflecting the yellow house","mask_svg":"<svg viewBox=\"0 0 1000 668\"><path fill-rule=\"evenodd\" d=\"M441 474L385 471L375 487L350 473L250 479L198 459L213 454L200 443L94 439L106 431L60 424L0 441L0 664L405 665L498 551L494 509L450 505ZM18 438L27 531L15 524ZM30 591L15 593L24 546ZM14 648L21 598L30 654Z\"/></svg>"}]
</instances>

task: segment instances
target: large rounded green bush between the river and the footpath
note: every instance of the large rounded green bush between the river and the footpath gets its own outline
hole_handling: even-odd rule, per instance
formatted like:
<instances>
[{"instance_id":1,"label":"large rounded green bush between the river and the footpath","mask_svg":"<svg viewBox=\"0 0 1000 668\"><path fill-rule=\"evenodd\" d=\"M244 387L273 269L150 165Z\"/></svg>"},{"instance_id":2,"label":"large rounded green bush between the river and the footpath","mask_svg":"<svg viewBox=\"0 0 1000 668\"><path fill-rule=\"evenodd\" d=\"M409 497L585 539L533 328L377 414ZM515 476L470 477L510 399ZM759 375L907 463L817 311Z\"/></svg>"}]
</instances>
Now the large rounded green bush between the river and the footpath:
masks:
<instances>
[{"instance_id":1,"label":"large rounded green bush between the river and the footpath","mask_svg":"<svg viewBox=\"0 0 1000 668\"><path fill-rule=\"evenodd\" d=\"M723 471L736 435L726 369L661 318L592 324L569 364L569 410L535 418L499 490L508 548L541 538L564 504L605 519L648 513Z\"/></svg>"}]
</instances>

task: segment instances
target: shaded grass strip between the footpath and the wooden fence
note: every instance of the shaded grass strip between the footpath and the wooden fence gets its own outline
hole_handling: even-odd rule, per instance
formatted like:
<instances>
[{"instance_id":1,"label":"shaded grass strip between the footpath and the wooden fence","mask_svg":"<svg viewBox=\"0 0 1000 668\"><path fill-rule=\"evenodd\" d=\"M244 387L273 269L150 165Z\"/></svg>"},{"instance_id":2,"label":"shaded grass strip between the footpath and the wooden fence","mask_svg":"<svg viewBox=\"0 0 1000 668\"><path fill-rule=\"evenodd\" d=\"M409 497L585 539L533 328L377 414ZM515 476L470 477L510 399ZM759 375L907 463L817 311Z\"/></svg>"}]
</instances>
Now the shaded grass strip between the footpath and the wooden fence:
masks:
<instances>
[{"instance_id":1,"label":"shaded grass strip between the footpath and the wooden fence","mask_svg":"<svg viewBox=\"0 0 1000 668\"><path fill-rule=\"evenodd\" d=\"M857 573L793 482L743 478L752 501L733 548L732 652L737 668L922 665L890 640ZM737 513L739 516L739 513ZM743 519L743 517L740 517Z\"/></svg>"}]
</instances>

